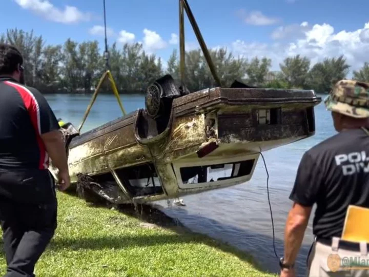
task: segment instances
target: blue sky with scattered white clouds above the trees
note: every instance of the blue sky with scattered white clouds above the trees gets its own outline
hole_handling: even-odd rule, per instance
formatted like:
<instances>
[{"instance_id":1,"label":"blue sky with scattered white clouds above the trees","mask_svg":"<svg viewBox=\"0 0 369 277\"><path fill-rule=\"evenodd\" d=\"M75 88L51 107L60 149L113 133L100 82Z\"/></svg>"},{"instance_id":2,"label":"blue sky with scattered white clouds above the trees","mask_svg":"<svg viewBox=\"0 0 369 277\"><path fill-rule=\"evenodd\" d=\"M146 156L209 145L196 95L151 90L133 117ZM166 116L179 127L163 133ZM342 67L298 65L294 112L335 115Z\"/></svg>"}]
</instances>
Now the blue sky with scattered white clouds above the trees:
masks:
<instances>
[{"instance_id":1,"label":"blue sky with scattered white clouds above the trees","mask_svg":"<svg viewBox=\"0 0 369 277\"><path fill-rule=\"evenodd\" d=\"M346 54L353 68L369 62L367 0L188 0L209 47L237 55L269 56L273 69L285 56L303 54L312 62ZM108 43L143 42L167 60L178 44L177 0L106 0ZM69 6L69 7L68 7ZM350 8L348 8L350 7ZM103 0L2 0L0 32L19 28L43 35L49 44L98 39L103 48ZM364 28L365 24L367 26ZM315 25L315 26L314 26ZM123 33L120 33L124 30ZM146 33L144 33L146 30ZM145 38L146 36L146 38ZM197 47L186 18L188 49Z\"/></svg>"}]
</instances>

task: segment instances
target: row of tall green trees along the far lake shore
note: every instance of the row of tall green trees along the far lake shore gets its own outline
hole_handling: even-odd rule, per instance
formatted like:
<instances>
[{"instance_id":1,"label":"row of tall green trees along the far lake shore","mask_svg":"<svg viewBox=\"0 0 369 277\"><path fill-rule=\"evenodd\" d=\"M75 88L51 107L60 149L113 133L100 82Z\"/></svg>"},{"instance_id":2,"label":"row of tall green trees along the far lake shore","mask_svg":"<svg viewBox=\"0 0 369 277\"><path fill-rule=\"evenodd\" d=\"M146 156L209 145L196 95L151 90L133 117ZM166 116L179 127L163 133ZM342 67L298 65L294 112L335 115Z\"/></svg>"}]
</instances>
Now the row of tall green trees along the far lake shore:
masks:
<instances>
[{"instance_id":1,"label":"row of tall green trees along the far lake shore","mask_svg":"<svg viewBox=\"0 0 369 277\"><path fill-rule=\"evenodd\" d=\"M71 38L63 45L47 45L45 39L33 31L9 29L0 35L0 43L10 43L25 58L26 83L42 93L93 93L99 78L106 71L105 59L97 41L78 43ZM125 44L110 48L110 69L120 93L144 93L147 86L164 74L171 74L179 83L179 56L173 50L166 70L160 57L148 54L142 45ZM308 57L287 57L279 71L271 71L272 60L236 57L226 48L210 50L222 85L229 87L235 80L264 88L314 89L329 92L350 70L344 55L325 58L311 66ZM214 87L216 83L201 49L186 52L186 87L191 91ZM369 82L369 63L357 71L353 78ZM103 93L111 93L108 86Z\"/></svg>"}]
</instances>

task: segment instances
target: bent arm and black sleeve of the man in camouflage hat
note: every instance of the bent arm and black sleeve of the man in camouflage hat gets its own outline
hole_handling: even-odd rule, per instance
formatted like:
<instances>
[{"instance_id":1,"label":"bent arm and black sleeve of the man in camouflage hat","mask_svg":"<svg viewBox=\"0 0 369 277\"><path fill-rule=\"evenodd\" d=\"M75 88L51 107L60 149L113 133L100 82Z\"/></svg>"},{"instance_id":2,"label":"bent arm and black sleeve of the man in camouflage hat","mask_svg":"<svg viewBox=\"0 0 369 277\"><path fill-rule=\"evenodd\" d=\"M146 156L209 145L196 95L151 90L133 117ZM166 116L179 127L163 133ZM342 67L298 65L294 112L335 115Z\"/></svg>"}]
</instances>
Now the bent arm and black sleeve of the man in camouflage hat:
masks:
<instances>
[{"instance_id":1,"label":"bent arm and black sleeve of the man in camouflage hat","mask_svg":"<svg viewBox=\"0 0 369 277\"><path fill-rule=\"evenodd\" d=\"M320 188L320 172L308 152L302 156L290 199L294 201L284 230L284 263L292 265L300 250Z\"/></svg>"}]
</instances>

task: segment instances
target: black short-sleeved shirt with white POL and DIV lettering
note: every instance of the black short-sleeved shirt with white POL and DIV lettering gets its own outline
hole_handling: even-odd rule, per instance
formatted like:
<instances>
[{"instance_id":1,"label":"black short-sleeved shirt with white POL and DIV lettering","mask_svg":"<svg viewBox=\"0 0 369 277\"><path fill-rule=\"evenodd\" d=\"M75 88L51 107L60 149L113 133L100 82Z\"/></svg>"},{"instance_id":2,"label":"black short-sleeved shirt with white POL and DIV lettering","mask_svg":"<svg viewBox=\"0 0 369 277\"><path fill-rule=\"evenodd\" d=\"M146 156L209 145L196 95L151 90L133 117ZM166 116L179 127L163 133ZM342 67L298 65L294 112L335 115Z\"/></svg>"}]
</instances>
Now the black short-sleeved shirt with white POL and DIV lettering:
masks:
<instances>
[{"instance_id":1,"label":"black short-sleeved shirt with white POL and DIV lettering","mask_svg":"<svg viewBox=\"0 0 369 277\"><path fill-rule=\"evenodd\" d=\"M348 205L369 208L369 136L345 130L306 151L290 199L317 204L314 235L340 237Z\"/></svg>"}]
</instances>

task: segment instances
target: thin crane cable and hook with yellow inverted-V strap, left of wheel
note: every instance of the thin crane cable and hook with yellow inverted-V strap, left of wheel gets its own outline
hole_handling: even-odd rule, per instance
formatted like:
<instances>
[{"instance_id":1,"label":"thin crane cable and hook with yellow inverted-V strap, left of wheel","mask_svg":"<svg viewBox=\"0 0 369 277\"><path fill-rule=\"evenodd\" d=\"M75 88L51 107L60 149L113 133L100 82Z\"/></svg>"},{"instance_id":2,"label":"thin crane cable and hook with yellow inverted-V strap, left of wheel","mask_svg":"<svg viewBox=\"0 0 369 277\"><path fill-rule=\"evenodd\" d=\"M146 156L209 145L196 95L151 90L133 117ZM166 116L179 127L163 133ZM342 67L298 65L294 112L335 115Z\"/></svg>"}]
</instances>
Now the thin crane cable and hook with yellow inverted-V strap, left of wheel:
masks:
<instances>
[{"instance_id":1,"label":"thin crane cable and hook with yellow inverted-V strap, left of wheel","mask_svg":"<svg viewBox=\"0 0 369 277\"><path fill-rule=\"evenodd\" d=\"M116 88L113 75L110 72L110 64L109 64L110 53L109 53L109 50L108 50L105 0L103 0L103 2L104 2L104 28L105 28L105 52L104 52L104 59L105 59L105 62L106 62L105 66L106 66L107 71L103 74L103 76L101 76L100 81L97 84L97 87L95 89L95 92L92 95L91 102L90 102L89 106L87 107L87 109L85 111L85 114L84 114L84 117L82 119L81 124L78 127L78 132L80 132L80 130L82 129L83 125L85 124L86 119L87 119L87 116L90 113L90 110L92 108L92 105L95 103L97 94L99 93L99 91L101 89L101 86L103 86L104 81L106 80L106 78L108 78L108 80L110 82L111 89L113 90L113 93L114 93L115 97L117 98L119 107L120 107L123 115L126 115L126 111L125 111L125 109L124 109L124 107L123 107L123 105L122 105L122 103L120 101L119 92L118 92L118 90Z\"/></svg>"}]
</instances>

